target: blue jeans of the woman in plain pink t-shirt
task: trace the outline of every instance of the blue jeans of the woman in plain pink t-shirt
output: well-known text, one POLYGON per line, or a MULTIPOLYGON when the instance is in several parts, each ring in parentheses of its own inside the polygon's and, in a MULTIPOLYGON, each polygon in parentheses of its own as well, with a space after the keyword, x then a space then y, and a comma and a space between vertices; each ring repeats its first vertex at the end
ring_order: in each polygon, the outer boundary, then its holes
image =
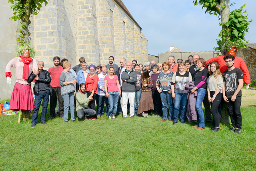
POLYGON ((116 92, 108 92, 108 115, 109 116, 116 116, 117 112, 117 104, 118 104, 118 93, 119 91, 116 92))

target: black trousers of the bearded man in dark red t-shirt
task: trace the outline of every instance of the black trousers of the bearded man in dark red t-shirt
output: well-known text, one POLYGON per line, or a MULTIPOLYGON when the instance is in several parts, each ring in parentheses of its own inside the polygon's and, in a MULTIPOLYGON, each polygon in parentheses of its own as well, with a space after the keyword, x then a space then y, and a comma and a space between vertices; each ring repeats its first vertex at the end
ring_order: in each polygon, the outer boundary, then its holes
POLYGON ((64 101, 62 99, 62 95, 60 94, 60 87, 52 87, 52 94, 50 95, 50 117, 55 117, 57 97, 59 101, 60 117, 64 116, 64 101))

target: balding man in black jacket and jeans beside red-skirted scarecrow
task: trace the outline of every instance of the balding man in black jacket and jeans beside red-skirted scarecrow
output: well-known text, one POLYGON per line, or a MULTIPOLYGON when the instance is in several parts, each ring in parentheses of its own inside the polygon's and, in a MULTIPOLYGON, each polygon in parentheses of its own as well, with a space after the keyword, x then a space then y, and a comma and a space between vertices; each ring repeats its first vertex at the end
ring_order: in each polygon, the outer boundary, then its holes
POLYGON ((52 79, 50 77, 50 73, 46 70, 43 70, 43 68, 44 68, 44 62, 38 61, 38 70, 37 71, 35 70, 34 73, 32 73, 28 78, 28 82, 32 82, 32 80, 36 81, 36 84, 34 87, 34 94, 36 95, 35 107, 33 110, 32 122, 31 122, 32 128, 36 126, 38 111, 39 111, 39 107, 41 105, 42 100, 43 100, 43 105, 42 105, 43 109, 41 113, 41 123, 44 125, 47 125, 47 123, 45 122, 45 116, 47 113, 49 95, 52 94, 52 87, 50 85, 50 82, 52 79))

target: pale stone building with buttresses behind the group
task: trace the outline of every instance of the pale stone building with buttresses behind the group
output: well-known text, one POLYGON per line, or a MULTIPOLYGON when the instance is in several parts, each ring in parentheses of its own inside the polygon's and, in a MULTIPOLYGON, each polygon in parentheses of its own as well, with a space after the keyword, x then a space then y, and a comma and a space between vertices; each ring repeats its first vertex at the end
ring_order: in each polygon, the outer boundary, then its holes
MULTIPOLYGON (((10 21, 10 3, 1 2, 0 17, 5 34, 0 35, 1 68, 14 57, 18 21, 10 21), (10 46, 11 45, 11 46, 10 46)), ((121 0, 48 0, 36 16, 32 16, 31 43, 36 49, 35 59, 45 63, 45 69, 53 66, 54 56, 67 58, 72 66, 84 57, 88 64, 108 64, 108 57, 148 61, 148 41, 142 28, 132 17, 121 0)), ((0 74, 0 99, 11 96, 15 84, 15 70, 12 69, 12 84, 6 84, 4 69, 0 74)))

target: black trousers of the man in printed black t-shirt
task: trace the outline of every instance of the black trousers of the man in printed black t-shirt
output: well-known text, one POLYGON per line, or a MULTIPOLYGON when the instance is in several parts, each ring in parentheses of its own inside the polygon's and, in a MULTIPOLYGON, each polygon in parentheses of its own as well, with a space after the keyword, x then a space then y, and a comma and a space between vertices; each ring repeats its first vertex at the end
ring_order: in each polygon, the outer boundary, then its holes
POLYGON ((228 98, 227 108, 230 115, 231 124, 235 128, 242 129, 242 114, 240 111, 242 97, 236 97, 235 101, 228 98))

